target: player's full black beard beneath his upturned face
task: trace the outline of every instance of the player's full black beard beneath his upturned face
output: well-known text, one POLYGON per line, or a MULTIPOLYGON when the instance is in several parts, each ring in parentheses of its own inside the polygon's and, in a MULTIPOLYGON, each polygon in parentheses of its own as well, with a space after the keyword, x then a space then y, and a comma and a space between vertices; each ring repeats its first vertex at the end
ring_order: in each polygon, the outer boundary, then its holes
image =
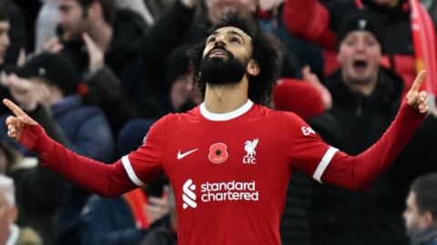
POLYGON ((202 59, 200 62, 200 76, 198 82, 200 84, 223 85, 239 83, 246 74, 246 68, 249 64, 249 59, 239 60, 235 58, 225 48, 219 48, 221 51, 228 54, 228 58, 209 57, 213 50, 202 59))

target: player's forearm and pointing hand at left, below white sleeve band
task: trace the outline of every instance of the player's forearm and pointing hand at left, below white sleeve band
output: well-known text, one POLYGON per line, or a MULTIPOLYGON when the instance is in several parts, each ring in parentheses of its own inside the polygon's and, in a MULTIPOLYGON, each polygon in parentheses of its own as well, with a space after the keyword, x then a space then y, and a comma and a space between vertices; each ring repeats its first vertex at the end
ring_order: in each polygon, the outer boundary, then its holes
POLYGON ((48 137, 43 127, 15 103, 7 99, 3 103, 15 114, 6 119, 8 136, 38 153, 43 165, 105 197, 114 197, 137 187, 130 181, 121 161, 104 164, 71 152, 48 137))

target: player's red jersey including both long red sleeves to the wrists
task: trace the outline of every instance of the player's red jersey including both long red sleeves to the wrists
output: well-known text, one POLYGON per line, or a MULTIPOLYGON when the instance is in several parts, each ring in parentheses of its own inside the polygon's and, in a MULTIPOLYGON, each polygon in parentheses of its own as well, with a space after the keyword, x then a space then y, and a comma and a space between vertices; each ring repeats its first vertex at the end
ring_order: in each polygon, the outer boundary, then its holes
POLYGON ((20 142, 43 165, 106 197, 165 171, 178 205, 179 244, 279 244, 279 218, 294 168, 317 181, 364 189, 390 166, 423 119, 402 103, 381 139, 357 156, 322 142, 297 115, 250 101, 232 113, 208 113, 202 104, 168 115, 150 129, 144 145, 114 164, 69 151, 38 124, 26 126, 20 142))

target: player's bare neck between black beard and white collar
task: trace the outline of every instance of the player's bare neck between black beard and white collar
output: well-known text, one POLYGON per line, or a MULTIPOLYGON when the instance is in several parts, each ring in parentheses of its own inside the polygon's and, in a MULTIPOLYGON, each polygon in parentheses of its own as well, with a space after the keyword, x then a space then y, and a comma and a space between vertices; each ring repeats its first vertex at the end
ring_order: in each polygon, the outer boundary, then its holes
POLYGON ((205 108, 210 113, 230 113, 248 102, 249 84, 246 76, 243 81, 232 85, 210 85, 205 92, 205 108))

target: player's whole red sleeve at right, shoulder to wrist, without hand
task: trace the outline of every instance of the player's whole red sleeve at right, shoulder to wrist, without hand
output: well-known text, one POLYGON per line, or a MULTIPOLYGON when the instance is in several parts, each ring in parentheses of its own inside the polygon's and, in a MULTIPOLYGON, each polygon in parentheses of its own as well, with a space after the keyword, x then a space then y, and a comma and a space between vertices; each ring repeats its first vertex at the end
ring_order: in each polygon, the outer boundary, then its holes
POLYGON ((296 137, 290 145, 291 162, 317 181, 352 190, 365 189, 398 157, 423 119, 423 114, 402 103, 400 112, 381 139, 357 156, 337 151, 321 142, 318 135, 305 128, 308 127, 305 122, 295 120, 295 129, 291 129, 291 135, 296 137), (304 127, 300 135, 298 127, 304 127))

